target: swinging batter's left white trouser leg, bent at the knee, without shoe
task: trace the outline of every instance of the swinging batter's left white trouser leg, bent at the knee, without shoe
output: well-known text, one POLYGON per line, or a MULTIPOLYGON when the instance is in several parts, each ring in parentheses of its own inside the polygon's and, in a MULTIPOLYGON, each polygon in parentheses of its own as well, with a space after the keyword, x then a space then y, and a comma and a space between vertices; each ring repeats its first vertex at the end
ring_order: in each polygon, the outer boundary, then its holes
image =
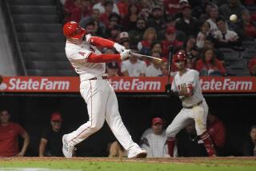
POLYGON ((104 86, 104 82, 106 81, 86 81, 82 86, 81 94, 87 104, 89 121, 74 132, 67 134, 67 141, 69 141, 70 145, 77 145, 102 128, 105 121, 106 101, 109 93, 104 86))

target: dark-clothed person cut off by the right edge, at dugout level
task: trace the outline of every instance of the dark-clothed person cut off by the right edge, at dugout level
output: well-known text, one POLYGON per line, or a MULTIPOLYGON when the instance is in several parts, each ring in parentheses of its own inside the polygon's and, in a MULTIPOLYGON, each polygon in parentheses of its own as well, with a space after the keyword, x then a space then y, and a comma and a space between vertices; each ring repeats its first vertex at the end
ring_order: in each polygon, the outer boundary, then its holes
POLYGON ((256 156, 256 125, 250 128, 250 137, 246 138, 242 153, 244 156, 256 156))

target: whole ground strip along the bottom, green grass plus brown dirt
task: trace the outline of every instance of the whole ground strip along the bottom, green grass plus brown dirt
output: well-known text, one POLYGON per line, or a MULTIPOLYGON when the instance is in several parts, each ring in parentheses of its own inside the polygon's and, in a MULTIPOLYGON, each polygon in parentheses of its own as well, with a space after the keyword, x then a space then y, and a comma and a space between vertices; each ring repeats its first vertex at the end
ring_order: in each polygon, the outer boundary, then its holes
POLYGON ((0 158, 0 170, 85 170, 85 171, 201 171, 256 170, 256 157, 192 157, 117 159, 76 157, 15 157, 0 158))

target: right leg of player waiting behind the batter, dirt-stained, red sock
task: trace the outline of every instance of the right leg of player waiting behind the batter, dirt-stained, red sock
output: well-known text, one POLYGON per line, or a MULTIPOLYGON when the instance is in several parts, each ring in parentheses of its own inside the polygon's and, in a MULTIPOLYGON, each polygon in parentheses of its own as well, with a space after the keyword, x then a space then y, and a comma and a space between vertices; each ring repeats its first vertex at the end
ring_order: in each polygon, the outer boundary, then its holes
POLYGON ((204 142, 206 151, 209 156, 216 156, 216 151, 214 149, 214 143, 210 138, 210 134, 206 129, 206 117, 208 114, 208 106, 206 102, 202 105, 194 107, 191 109, 192 117, 194 118, 195 129, 197 131, 198 136, 204 142))

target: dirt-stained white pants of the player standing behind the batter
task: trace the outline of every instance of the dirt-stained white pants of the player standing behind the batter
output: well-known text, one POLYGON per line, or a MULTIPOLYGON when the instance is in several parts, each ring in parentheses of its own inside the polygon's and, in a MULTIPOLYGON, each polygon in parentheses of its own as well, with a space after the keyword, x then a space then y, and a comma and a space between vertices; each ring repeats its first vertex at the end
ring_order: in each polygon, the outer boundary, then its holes
POLYGON ((206 101, 202 101, 201 105, 195 106, 192 109, 183 108, 171 124, 166 129, 167 137, 175 137, 176 134, 186 125, 190 124, 191 119, 194 120, 195 129, 198 135, 201 135, 206 131, 206 118, 208 114, 208 105, 206 101))

